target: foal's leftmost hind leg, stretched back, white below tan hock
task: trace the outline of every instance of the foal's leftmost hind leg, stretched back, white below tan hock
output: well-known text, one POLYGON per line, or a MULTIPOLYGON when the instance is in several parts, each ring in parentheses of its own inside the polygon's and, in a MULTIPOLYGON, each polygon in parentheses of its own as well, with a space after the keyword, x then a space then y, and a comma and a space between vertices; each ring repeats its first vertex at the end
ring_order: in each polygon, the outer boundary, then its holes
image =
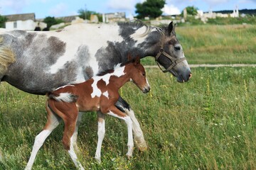
POLYGON ((46 138, 48 137, 48 135, 50 135, 50 133, 58 126, 58 124, 60 123, 60 117, 58 117, 58 115, 55 115, 55 113, 52 113, 50 111, 50 108, 48 107, 48 104, 46 102, 46 111, 48 113, 48 118, 47 118, 47 123, 45 128, 43 128, 43 131, 40 132, 36 138, 35 138, 35 142, 33 145, 33 149, 31 152, 31 157, 28 160, 28 164, 26 166, 26 170, 28 169, 32 169, 33 166, 33 162, 35 161, 36 158, 36 154, 38 152, 38 150, 42 147, 43 142, 46 140, 46 138))

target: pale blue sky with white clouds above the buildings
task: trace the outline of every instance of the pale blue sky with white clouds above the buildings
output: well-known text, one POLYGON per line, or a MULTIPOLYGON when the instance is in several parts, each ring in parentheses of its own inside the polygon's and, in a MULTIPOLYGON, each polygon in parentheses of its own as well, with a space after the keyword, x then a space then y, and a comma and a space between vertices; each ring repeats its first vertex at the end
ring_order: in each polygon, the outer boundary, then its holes
MULTIPOLYGON (((125 12, 127 18, 136 16, 135 5, 145 0, 0 0, 0 15, 35 13, 36 18, 78 15, 79 9, 97 13, 125 12)), ((186 6, 201 11, 256 9, 256 0, 166 0, 164 15, 179 14, 186 6)))

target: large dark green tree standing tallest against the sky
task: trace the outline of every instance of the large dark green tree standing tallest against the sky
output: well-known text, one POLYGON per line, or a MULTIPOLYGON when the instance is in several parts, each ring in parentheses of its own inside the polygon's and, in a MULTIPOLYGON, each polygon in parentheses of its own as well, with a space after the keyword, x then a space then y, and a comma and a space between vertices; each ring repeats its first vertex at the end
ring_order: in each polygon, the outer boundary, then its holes
POLYGON ((137 18, 142 19, 146 16, 157 18, 161 16, 163 13, 161 9, 164 8, 164 4, 166 4, 165 0, 146 0, 142 4, 136 4, 135 13, 138 13, 137 18))

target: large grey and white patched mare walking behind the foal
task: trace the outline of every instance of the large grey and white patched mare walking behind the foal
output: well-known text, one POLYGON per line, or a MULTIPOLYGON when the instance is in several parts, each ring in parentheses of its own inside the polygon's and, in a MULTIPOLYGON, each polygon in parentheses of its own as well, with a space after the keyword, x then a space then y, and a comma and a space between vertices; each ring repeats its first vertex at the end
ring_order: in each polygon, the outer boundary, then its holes
MULTIPOLYGON (((178 82, 186 82, 192 75, 173 22, 160 28, 133 21, 73 24, 48 32, 0 29, 0 80, 30 94, 46 95, 127 62, 129 53, 132 58, 154 57, 178 82)), ((132 119, 135 145, 146 149, 132 108, 122 96, 115 105, 132 119)))

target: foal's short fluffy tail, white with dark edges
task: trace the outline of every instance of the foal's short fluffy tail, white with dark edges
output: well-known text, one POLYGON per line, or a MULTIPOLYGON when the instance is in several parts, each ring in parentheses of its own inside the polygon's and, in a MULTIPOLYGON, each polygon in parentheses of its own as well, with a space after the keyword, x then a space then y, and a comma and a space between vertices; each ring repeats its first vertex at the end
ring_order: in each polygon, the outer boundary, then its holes
POLYGON ((50 92, 47 94, 48 98, 51 98, 55 101, 63 101, 63 102, 67 102, 67 103, 73 103, 78 101, 78 96, 75 96, 74 94, 69 94, 69 93, 54 93, 54 92, 50 92))

